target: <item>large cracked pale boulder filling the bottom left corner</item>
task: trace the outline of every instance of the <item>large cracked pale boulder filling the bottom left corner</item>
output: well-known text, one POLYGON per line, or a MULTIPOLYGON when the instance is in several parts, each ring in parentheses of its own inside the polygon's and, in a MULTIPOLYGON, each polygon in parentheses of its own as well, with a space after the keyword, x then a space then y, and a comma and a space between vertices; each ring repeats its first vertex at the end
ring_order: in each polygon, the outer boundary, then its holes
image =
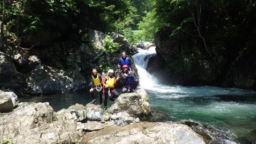
POLYGON ((0 114, 0 141, 75 144, 82 130, 76 130, 74 120, 58 119, 49 103, 20 103, 11 113, 0 114))

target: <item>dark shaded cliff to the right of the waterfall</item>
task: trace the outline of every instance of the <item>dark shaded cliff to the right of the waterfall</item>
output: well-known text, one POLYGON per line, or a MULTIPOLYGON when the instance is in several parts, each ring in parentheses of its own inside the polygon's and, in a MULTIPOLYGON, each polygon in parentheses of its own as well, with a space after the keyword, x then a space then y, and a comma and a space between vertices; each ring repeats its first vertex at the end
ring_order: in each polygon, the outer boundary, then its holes
MULTIPOLYGON (((255 27, 251 29, 255 31, 255 27)), ((163 59, 165 64, 159 71, 148 71, 153 74, 164 73, 165 77, 169 77, 169 84, 256 90, 256 57, 253 46, 246 46, 246 42, 241 40, 236 43, 243 44, 237 47, 230 45, 223 49, 211 49, 210 56, 203 48, 200 38, 182 30, 170 36, 172 31, 171 28, 163 28, 155 34, 156 57, 163 59), (242 45, 245 47, 241 47, 242 45)), ((247 41, 252 39, 248 37, 247 41)))

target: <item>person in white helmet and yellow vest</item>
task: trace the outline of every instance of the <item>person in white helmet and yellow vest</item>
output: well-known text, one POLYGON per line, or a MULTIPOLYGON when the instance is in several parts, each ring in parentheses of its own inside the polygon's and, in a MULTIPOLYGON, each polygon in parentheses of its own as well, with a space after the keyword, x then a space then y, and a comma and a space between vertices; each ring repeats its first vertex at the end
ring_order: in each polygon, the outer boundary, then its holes
POLYGON ((110 101, 115 101, 114 98, 117 98, 119 96, 119 93, 115 90, 115 85, 117 84, 117 81, 119 80, 119 76, 117 79, 114 77, 114 71, 112 69, 108 70, 108 75, 103 80, 103 86, 105 87, 105 100, 104 100, 104 109, 107 109, 107 102, 108 102, 108 96, 111 96, 111 94, 114 94, 114 96, 110 97, 110 101))

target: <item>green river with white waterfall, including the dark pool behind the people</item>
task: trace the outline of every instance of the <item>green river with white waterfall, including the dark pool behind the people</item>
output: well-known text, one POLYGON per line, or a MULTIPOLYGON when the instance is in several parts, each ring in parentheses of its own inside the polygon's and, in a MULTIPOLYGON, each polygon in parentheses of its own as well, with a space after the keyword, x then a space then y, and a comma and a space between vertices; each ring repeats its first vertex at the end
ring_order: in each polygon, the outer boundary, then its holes
MULTIPOLYGON (((170 121, 194 120, 210 125, 226 134, 231 141, 226 143, 253 144, 256 142, 256 92, 220 87, 166 86, 145 71, 147 55, 155 53, 139 49, 133 55, 139 74, 138 89, 148 93, 150 107, 167 113, 170 121)), ((121 93, 121 89, 117 90, 121 93)), ((98 93, 95 93, 98 104, 98 93)), ((28 102, 49 102, 55 111, 74 104, 86 105, 91 101, 89 92, 64 93, 51 96, 37 96, 21 100, 28 102)), ((108 101, 110 107, 112 101, 108 101)))

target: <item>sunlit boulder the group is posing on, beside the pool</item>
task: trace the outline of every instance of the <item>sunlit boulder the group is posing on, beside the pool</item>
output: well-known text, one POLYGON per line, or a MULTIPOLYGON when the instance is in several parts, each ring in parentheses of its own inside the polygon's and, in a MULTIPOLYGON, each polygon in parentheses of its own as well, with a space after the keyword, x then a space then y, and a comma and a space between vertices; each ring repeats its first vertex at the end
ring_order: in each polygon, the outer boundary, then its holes
POLYGON ((151 116, 147 92, 144 89, 137 90, 137 93, 124 93, 118 96, 106 112, 126 112, 142 120, 151 116))

